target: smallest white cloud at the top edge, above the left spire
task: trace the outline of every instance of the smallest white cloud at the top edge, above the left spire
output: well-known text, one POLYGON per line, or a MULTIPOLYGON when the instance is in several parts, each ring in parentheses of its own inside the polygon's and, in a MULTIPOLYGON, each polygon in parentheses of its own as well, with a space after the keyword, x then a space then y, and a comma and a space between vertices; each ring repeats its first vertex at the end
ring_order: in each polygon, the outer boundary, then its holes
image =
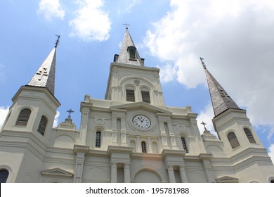
POLYGON ((60 6, 59 0, 41 0, 37 13, 43 14, 47 20, 63 19, 65 16, 65 11, 60 6))

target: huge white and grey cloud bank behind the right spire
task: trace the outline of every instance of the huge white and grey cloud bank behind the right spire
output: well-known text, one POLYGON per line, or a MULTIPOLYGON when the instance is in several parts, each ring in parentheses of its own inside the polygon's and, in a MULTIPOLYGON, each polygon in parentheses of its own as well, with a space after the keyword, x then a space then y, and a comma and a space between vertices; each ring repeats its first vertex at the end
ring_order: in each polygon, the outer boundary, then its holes
POLYGON ((216 80, 247 109, 252 124, 268 126, 270 139, 274 135, 274 1, 173 0, 170 6, 143 41, 153 56, 169 63, 167 82, 177 80, 188 88, 205 84, 202 56, 216 80))

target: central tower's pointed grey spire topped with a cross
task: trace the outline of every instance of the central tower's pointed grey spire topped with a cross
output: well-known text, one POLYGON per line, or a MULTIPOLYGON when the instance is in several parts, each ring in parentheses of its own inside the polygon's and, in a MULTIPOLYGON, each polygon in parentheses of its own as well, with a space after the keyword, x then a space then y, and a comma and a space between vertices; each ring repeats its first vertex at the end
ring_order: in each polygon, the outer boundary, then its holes
POLYGON ((120 54, 117 58, 117 63, 126 63, 131 65, 144 66, 144 59, 139 56, 136 46, 133 43, 129 34, 129 24, 126 23, 126 32, 120 49, 120 54))

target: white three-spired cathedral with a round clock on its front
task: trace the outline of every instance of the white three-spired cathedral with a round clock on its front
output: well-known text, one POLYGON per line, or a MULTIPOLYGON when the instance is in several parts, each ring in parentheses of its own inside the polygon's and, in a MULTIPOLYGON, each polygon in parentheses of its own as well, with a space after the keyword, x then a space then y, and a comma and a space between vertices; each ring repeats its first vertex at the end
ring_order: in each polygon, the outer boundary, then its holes
POLYGON ((0 130, 0 182, 274 182, 274 165, 246 111, 204 66, 218 137, 189 106, 166 106, 159 69, 145 67, 128 28, 105 99, 84 96, 79 130, 53 128, 56 46, 13 96, 0 130))

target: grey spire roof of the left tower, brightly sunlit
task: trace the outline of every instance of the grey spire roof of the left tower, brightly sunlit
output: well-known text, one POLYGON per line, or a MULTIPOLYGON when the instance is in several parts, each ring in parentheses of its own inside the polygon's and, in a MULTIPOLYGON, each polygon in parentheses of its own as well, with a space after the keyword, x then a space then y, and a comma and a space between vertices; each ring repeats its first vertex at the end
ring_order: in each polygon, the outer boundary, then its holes
POLYGON ((53 48, 48 57, 41 64, 40 68, 32 77, 32 80, 27 84, 34 87, 46 87, 51 94, 54 95, 56 75, 56 47, 53 48))

